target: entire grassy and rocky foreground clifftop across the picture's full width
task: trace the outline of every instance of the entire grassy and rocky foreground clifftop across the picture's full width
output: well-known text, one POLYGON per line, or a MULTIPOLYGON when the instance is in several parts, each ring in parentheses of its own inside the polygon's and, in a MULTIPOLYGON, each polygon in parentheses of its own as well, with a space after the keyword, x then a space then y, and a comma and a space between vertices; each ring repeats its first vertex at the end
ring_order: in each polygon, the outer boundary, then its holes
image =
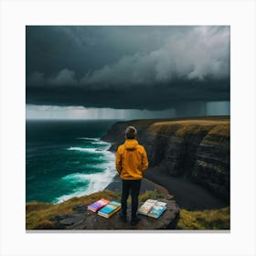
MULTIPOLYGON (((230 229, 230 211, 228 208, 203 211, 187 211, 179 208, 172 197, 159 191, 147 191, 139 196, 140 204, 153 198, 167 203, 167 210, 159 219, 141 216, 136 226, 117 220, 117 215, 104 219, 89 212, 87 206, 99 198, 121 200, 121 194, 109 190, 100 191, 84 197, 73 197, 63 203, 27 202, 26 229, 72 229, 72 230, 108 230, 108 229, 230 229)), ((131 206, 129 206, 131 210, 131 206)), ((130 217, 130 212, 128 217, 130 217)))

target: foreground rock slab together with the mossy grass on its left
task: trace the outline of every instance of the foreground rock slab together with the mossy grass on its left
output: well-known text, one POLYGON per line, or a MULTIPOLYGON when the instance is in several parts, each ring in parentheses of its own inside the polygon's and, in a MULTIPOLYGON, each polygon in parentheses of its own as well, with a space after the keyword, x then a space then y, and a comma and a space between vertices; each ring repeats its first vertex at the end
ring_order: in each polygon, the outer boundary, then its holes
MULTIPOLYGON (((105 219, 87 209, 88 205, 99 200, 121 200, 120 194, 106 190, 84 197, 73 197, 68 201, 53 205, 50 203, 30 202, 26 205, 26 228, 28 229, 72 229, 72 230, 120 230, 120 229, 176 229, 180 208, 170 196, 164 196, 156 191, 148 191, 139 197, 139 206, 147 198, 156 198, 166 203, 166 209, 161 218, 154 219, 140 215, 141 221, 131 226, 130 221, 123 223, 118 214, 105 219)), ((131 204, 128 203, 128 220, 131 217, 131 204)))

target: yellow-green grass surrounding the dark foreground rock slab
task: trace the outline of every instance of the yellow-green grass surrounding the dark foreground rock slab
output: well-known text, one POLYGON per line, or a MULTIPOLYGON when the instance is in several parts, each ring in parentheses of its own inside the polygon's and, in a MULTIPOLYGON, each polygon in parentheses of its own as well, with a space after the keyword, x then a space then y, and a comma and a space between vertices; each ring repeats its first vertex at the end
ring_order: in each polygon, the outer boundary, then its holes
MULTIPOLYGON (((51 229, 53 223, 49 220, 59 214, 72 213, 73 207, 79 204, 91 204, 101 198, 108 200, 121 200, 120 193, 101 191, 84 197, 73 197, 63 203, 53 205, 50 203, 29 202, 26 204, 26 229, 51 229)), ((146 191, 141 194, 139 201, 148 198, 164 198, 159 191, 146 191)), ((229 229, 229 208, 220 208, 203 211, 188 211, 181 209, 177 229, 229 229)))

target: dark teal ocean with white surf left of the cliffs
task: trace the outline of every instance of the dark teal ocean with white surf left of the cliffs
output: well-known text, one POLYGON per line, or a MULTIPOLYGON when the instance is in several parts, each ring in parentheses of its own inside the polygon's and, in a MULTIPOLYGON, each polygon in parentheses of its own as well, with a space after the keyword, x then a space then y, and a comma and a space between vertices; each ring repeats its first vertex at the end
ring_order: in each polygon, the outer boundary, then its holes
POLYGON ((27 121, 26 201, 63 202, 107 187, 116 175, 101 136, 116 121, 27 121))

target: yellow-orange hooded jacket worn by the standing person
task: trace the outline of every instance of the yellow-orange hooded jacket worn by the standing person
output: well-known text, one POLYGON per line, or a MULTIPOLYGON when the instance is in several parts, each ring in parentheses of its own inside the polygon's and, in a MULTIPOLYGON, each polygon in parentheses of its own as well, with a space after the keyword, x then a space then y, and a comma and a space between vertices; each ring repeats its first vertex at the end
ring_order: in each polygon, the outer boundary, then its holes
POLYGON ((137 140, 126 140, 117 149, 115 166, 121 178, 141 179, 148 167, 144 146, 137 140))

